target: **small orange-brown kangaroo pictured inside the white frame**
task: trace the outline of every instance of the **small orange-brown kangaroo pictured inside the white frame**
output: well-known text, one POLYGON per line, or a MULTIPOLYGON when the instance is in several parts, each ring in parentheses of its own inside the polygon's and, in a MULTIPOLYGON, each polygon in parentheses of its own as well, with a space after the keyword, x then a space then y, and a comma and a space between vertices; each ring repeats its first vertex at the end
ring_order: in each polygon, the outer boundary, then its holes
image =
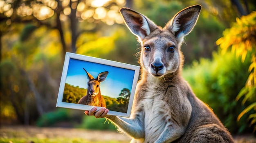
POLYGON ((87 73, 87 76, 89 78, 87 95, 83 96, 79 100, 78 104, 106 108, 106 102, 105 102, 104 98, 101 96, 99 84, 100 84, 100 82, 103 82, 105 80, 105 78, 108 75, 108 72, 101 72, 96 79, 91 74, 89 74, 86 70, 85 70, 85 72, 87 73))

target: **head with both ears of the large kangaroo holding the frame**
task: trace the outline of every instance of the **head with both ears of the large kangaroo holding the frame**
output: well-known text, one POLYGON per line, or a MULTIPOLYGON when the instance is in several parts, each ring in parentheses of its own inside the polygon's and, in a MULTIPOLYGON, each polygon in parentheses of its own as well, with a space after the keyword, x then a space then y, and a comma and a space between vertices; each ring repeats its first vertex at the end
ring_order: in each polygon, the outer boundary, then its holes
POLYGON ((187 7, 161 28, 136 11, 120 9, 126 26, 141 43, 140 64, 143 72, 159 78, 182 69, 180 46, 184 36, 195 26, 200 10, 200 5, 187 7))

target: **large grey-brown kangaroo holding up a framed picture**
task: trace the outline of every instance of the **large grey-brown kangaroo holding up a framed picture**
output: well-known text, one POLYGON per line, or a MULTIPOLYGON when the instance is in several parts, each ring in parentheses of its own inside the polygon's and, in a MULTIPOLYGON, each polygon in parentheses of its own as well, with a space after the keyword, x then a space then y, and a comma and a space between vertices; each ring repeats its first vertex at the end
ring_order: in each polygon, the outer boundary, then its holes
POLYGON ((106 115, 108 109, 85 111, 106 117, 131 143, 234 143, 229 131, 182 78, 184 36, 195 26, 200 5, 178 12, 164 28, 146 16, 120 9, 126 26, 141 43, 141 79, 129 118, 106 115))

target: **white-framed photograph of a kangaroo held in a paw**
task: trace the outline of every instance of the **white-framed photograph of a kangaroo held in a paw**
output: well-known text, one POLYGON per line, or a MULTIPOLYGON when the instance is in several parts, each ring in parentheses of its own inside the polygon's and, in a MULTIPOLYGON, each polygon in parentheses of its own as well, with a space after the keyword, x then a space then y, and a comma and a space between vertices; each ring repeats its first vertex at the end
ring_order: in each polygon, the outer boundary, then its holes
POLYGON ((66 52, 56 107, 130 117, 139 66, 66 52))

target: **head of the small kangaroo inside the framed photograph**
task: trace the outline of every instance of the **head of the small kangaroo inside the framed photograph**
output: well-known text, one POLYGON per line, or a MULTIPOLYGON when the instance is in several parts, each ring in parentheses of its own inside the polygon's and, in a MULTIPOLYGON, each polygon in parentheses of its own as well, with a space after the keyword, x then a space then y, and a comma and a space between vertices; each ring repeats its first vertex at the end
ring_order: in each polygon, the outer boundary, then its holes
MULTIPOLYGON (((83 68, 84 69, 84 68, 83 68)), ((85 70, 85 69, 84 69, 85 70)), ((92 96, 98 95, 100 93, 99 83, 103 82, 108 75, 108 72, 101 72, 97 78, 94 78, 91 74, 89 74, 86 70, 87 76, 89 78, 87 93, 92 96)))

